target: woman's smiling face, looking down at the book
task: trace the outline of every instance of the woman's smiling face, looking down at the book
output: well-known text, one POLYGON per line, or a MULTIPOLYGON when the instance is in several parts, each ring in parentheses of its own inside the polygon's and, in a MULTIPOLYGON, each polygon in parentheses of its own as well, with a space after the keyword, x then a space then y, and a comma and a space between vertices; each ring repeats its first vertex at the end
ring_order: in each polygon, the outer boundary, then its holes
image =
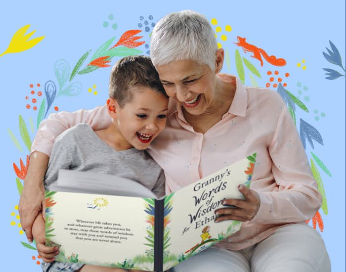
POLYGON ((177 60, 156 67, 167 95, 193 115, 213 107, 216 72, 195 60, 177 60))

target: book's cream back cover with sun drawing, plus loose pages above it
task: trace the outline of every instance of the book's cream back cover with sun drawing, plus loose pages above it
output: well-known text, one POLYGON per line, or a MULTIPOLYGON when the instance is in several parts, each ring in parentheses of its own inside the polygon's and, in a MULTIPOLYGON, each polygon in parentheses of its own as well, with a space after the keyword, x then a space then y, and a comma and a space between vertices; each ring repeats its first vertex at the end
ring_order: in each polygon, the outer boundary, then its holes
POLYGON ((109 190, 94 180, 94 174, 63 172, 52 188, 64 192, 46 192, 46 239, 61 245, 56 261, 153 271, 154 237, 148 237, 146 226, 148 203, 155 206, 152 198, 66 192, 97 187, 108 193, 150 197, 151 191, 135 181, 95 174, 101 180, 115 180, 113 190, 109 190), (73 182, 68 182, 71 179, 73 182))

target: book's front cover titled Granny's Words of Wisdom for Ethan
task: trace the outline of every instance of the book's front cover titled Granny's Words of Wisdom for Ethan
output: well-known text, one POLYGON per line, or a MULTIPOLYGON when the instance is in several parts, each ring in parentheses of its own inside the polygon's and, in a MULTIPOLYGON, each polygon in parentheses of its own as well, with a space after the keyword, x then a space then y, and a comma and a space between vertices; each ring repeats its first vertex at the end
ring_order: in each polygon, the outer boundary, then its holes
POLYGON ((250 185, 255 160, 256 153, 166 196, 164 270, 240 229, 239 221, 215 223, 215 210, 224 199, 244 198, 237 186, 250 185))

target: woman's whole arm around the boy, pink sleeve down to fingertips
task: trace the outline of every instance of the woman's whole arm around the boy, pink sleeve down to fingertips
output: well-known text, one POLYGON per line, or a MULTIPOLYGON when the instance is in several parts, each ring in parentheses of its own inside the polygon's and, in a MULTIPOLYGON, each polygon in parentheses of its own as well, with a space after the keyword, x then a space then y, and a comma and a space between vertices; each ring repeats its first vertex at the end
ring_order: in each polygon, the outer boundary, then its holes
POLYGON ((111 119, 104 105, 92 110, 50 114, 48 119, 40 124, 31 146, 30 165, 19 200, 20 221, 29 242, 33 239, 31 227, 34 219, 42 207, 44 209, 43 177, 54 139, 68 128, 82 122, 89 124, 94 130, 99 130, 108 127, 111 119))

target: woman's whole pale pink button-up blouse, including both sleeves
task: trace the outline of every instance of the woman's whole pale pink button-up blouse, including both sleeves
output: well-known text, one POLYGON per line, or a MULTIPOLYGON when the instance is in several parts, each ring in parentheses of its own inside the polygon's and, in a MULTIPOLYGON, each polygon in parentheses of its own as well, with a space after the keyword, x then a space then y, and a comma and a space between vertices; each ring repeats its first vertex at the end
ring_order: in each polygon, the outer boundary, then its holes
MULTIPOLYGON (((267 89, 244 87, 231 75, 218 77, 237 86, 232 104, 222 119, 204 134, 195 132, 186 122, 181 105, 171 99, 167 127, 148 152, 165 171, 166 193, 257 152, 250 188, 259 194, 258 213, 252 220, 243 222, 240 231, 216 244, 241 250, 284 224, 310 219, 322 198, 295 124, 280 95, 267 89)), ((99 130, 107 128, 111 118, 105 105, 50 114, 41 123, 31 151, 49 155, 55 137, 81 122, 99 130)))

